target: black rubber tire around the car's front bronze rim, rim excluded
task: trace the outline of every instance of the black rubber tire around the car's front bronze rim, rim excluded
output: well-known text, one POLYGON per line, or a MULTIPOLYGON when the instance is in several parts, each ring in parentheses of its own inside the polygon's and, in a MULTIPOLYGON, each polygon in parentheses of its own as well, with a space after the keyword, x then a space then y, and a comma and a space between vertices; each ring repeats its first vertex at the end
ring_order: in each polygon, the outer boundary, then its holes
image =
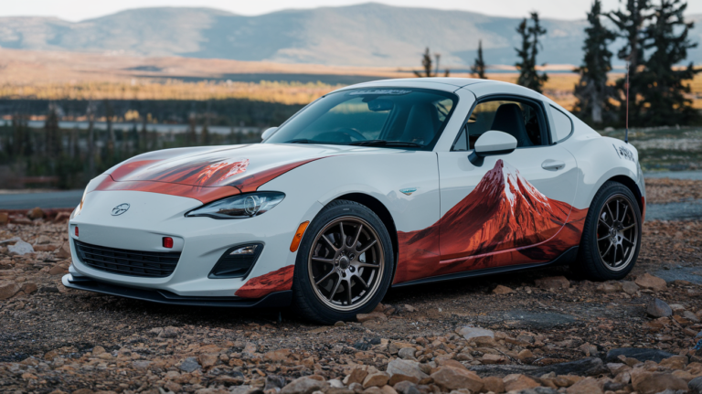
POLYGON ((302 317, 308 320, 313 320, 322 324, 334 324, 338 321, 355 320, 356 314, 371 312, 378 303, 382 301, 383 297, 385 297, 385 293, 388 292, 390 282, 392 281, 394 261, 392 242, 388 234, 388 229, 386 229, 382 220, 378 218, 378 215, 370 208, 354 201, 333 201, 324 207, 312 220, 309 227, 305 230, 300 248, 297 250, 293 275, 293 301, 298 313, 302 314, 302 317), (378 234, 385 257, 385 261, 383 261, 385 264, 383 277, 378 285, 378 290, 367 303, 351 311, 335 311, 322 303, 314 293, 313 285, 309 281, 308 276, 309 267, 307 259, 318 233, 324 229, 329 222, 342 217, 356 217, 366 221, 378 234))

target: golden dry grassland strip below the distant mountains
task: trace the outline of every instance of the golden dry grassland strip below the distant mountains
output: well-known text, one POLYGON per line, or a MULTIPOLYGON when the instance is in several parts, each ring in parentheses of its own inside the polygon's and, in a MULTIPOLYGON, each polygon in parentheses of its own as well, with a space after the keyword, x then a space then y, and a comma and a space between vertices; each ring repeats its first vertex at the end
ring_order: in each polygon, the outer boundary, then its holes
MULTIPOLYGON (((569 69, 553 66, 548 70, 569 69)), ((505 68, 500 68, 505 69, 505 68)), ((303 104, 333 91, 339 85, 321 82, 232 82, 228 76, 271 74, 271 80, 285 74, 366 76, 378 79, 406 78, 411 74, 390 68, 334 67, 314 64, 281 64, 225 59, 139 58, 90 53, 29 51, 0 48, 0 98, 77 100, 217 100, 303 104), (184 79, 202 79, 186 82, 184 79)), ((470 78, 469 74, 452 77, 470 78)), ((488 73, 491 80, 515 83, 516 72, 488 73)), ((622 78, 612 74, 610 81, 622 78)), ((263 78, 262 78, 263 79, 263 78)), ((573 73, 549 74, 544 93, 567 109, 576 102, 573 73)), ((702 73, 691 82, 694 106, 702 109, 702 73)))

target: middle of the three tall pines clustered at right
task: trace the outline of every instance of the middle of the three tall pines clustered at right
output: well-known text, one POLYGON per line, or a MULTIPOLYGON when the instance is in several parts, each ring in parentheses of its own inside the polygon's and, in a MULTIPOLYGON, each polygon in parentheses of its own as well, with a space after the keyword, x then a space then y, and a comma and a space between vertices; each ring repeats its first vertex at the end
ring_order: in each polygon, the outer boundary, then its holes
MULTIPOLYGON (((626 41, 617 57, 629 62, 629 118, 633 122, 640 122, 643 104, 639 95, 644 87, 639 79, 639 66, 645 62, 644 27, 652 17, 650 0, 626 0, 623 10, 611 12, 607 17, 619 29, 618 36, 626 41)), ((626 116, 626 78, 617 80, 615 87, 620 102, 620 121, 623 122, 626 116)))

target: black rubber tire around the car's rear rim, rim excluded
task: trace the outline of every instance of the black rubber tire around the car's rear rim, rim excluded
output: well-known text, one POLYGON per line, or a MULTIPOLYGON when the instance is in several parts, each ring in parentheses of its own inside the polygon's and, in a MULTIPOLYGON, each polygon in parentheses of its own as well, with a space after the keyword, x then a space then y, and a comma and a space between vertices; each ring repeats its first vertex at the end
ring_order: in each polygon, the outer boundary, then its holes
POLYGON ((638 259, 639 250, 641 250, 642 230, 641 210, 639 209, 636 197, 633 196, 632 191, 618 182, 606 182, 601 186, 600 190, 592 199, 592 204, 590 204, 590 209, 583 228, 582 240, 580 241, 578 259, 579 271, 585 274, 589 279, 596 281, 623 279, 633 270, 633 266, 638 259), (612 271, 607 267, 600 257, 600 250, 597 245, 597 222, 599 220, 601 208, 610 197, 616 195, 625 197, 633 207, 633 214, 636 216, 636 223, 638 226, 636 231, 636 247, 633 250, 632 261, 622 271, 612 271))

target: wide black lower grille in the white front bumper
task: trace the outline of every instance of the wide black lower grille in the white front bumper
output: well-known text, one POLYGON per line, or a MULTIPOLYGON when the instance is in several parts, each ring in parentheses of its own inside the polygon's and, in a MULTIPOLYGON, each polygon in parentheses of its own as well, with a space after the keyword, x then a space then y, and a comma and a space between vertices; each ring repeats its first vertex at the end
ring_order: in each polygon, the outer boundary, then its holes
POLYGON ((75 240, 80 261, 96 270, 130 276, 165 278, 176 270, 180 252, 122 250, 75 240))

